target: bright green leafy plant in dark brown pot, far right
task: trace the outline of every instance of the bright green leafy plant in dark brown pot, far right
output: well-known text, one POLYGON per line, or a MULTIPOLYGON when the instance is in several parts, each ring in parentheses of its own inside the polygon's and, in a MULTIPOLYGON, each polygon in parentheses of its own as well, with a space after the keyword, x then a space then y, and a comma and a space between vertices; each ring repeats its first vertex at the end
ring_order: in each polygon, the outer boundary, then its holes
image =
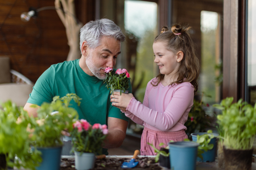
POLYGON ((217 123, 223 130, 225 169, 250 170, 256 134, 256 105, 253 108, 242 99, 232 102, 233 97, 227 97, 220 105, 214 105, 222 110, 217 123))

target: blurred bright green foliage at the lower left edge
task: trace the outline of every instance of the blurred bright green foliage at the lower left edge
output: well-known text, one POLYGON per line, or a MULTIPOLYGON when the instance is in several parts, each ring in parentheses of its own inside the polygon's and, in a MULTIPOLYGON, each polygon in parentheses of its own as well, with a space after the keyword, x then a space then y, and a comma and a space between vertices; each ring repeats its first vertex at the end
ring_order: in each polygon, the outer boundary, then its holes
POLYGON ((6 155, 6 161, 10 167, 23 167, 35 170, 41 162, 40 152, 30 150, 28 126, 36 124, 35 119, 30 118, 26 111, 20 110, 15 103, 7 101, 0 109, 0 153, 6 155), (17 123, 17 118, 21 120, 17 123), (15 159, 17 156, 18 159, 15 159), (14 161, 12 161, 14 160, 14 161))

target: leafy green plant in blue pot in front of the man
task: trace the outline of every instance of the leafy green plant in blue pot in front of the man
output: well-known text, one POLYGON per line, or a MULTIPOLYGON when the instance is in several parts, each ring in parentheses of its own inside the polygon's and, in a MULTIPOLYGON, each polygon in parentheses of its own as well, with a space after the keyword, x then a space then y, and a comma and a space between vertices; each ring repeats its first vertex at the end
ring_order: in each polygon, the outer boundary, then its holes
MULTIPOLYGON (((70 108, 70 101, 74 100, 80 105, 81 98, 76 94, 67 94, 59 98, 55 96, 52 103, 44 102, 38 109, 38 117, 41 123, 31 126, 31 139, 35 141, 33 144, 42 153, 42 163, 38 170, 58 170, 60 169, 61 160, 61 131, 73 129, 73 123, 78 120, 78 113, 74 108, 70 108), (57 114, 51 114, 58 111, 57 114)), ((32 105, 36 107, 35 105, 32 105)))

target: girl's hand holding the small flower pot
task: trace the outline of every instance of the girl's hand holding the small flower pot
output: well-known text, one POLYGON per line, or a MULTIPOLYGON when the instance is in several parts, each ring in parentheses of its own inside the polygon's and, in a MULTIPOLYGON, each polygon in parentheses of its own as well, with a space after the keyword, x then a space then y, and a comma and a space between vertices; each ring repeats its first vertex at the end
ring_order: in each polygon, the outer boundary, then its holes
POLYGON ((111 95, 110 97, 111 97, 111 102, 116 102, 116 103, 112 103, 112 106, 127 108, 131 98, 133 98, 134 96, 131 93, 129 94, 122 93, 122 95, 120 96, 119 92, 114 92, 114 95, 111 95), (113 98, 116 98, 116 99, 113 99, 113 98))

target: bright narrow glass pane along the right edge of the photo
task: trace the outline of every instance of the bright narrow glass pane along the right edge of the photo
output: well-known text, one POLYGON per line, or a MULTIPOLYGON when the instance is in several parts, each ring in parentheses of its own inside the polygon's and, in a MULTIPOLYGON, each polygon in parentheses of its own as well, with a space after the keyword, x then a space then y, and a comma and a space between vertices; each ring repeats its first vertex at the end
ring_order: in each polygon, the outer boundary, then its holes
POLYGON ((247 85, 248 102, 256 103, 256 1, 248 0, 247 85))

